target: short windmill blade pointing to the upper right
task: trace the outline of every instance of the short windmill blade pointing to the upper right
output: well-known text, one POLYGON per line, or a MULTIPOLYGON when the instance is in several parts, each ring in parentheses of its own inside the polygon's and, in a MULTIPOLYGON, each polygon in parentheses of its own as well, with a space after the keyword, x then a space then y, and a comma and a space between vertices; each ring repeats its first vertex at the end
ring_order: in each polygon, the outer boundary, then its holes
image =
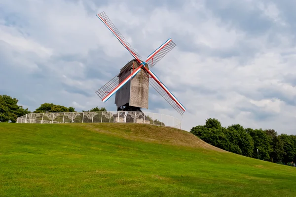
POLYGON ((146 60, 148 63, 149 69, 151 69, 162 57, 167 55, 174 47, 177 45, 170 38, 164 42, 160 47, 158 47, 153 53, 151 53, 146 60))

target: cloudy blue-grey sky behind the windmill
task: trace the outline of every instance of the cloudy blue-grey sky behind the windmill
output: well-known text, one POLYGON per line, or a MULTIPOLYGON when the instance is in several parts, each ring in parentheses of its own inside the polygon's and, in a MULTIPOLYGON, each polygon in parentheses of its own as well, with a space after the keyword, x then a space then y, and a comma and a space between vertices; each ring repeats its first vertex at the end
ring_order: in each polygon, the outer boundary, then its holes
MULTIPOLYGON (((149 109, 189 131, 222 126, 296 134, 296 6, 291 0, 0 0, 0 94, 34 111, 42 103, 116 111, 95 93, 132 56, 97 18, 105 11, 148 56, 177 44, 153 72, 187 111, 151 90, 149 109)), ((150 88, 151 89, 151 88, 150 88)))

